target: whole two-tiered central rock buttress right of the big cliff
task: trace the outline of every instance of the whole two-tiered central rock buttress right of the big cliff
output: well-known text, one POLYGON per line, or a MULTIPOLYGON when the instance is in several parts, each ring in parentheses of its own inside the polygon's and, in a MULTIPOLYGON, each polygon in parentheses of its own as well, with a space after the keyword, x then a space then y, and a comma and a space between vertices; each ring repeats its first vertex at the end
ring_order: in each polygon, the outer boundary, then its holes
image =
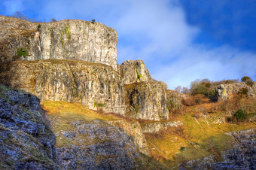
POLYGON ((167 85, 151 78, 142 60, 127 60, 120 65, 126 84, 126 116, 142 120, 168 120, 167 85))

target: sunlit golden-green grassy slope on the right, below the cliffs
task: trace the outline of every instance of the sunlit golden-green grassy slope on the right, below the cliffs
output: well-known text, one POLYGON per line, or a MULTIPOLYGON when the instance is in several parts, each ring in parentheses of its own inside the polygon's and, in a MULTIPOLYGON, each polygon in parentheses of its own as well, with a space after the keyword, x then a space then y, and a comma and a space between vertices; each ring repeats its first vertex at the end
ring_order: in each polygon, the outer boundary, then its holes
POLYGON ((202 105, 190 107, 186 114, 176 117, 183 121, 183 127, 146 134, 151 156, 171 167, 210 155, 214 156, 215 161, 221 161, 221 151, 231 149, 236 144, 236 140, 226 132, 256 128, 253 122, 214 124, 224 112, 196 117, 200 107, 202 105))

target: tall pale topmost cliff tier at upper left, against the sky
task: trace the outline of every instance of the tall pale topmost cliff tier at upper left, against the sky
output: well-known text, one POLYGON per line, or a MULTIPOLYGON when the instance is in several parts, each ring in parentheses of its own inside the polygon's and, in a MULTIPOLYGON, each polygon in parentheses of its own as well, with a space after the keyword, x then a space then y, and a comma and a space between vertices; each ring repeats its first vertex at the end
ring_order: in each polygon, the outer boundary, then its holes
POLYGON ((101 23, 61 20, 39 24, 0 16, 0 44, 2 62, 78 59, 117 70, 117 32, 101 23), (17 55, 20 50, 23 53, 17 55))

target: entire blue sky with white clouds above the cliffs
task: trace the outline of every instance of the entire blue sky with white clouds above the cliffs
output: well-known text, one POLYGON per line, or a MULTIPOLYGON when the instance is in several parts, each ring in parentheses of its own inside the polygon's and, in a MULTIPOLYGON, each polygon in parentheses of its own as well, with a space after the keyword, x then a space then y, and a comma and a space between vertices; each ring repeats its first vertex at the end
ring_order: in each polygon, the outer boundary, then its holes
POLYGON ((169 89, 203 78, 256 80, 254 0, 1 0, 0 14, 16 11, 110 26, 117 30, 117 62, 144 60, 169 89))

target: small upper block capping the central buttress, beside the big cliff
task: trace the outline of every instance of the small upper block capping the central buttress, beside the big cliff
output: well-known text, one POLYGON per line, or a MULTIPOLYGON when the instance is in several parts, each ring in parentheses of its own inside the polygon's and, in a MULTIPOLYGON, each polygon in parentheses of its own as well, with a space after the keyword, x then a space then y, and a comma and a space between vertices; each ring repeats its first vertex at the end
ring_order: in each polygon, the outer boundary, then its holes
POLYGON ((120 65, 120 74, 125 84, 152 80, 142 60, 126 60, 120 65))

